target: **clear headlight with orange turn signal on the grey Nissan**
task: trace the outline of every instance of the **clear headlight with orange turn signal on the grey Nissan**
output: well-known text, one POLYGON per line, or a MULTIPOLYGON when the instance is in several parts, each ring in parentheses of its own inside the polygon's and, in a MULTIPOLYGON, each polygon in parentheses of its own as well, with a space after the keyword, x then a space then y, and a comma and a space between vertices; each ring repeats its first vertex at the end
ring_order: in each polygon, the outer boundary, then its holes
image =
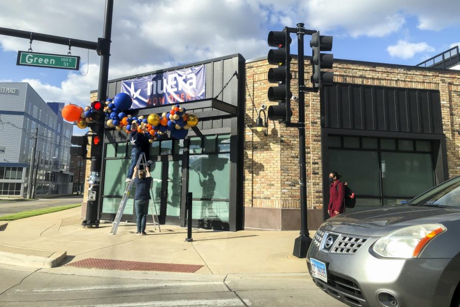
POLYGON ((427 243, 444 231, 441 224, 409 226, 382 236, 372 249, 385 258, 417 258, 427 243))

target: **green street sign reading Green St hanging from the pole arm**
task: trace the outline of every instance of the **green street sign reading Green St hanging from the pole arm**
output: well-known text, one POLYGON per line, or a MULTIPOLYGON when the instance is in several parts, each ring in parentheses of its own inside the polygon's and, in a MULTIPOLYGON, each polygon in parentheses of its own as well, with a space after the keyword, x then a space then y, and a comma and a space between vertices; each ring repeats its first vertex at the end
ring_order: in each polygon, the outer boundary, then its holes
POLYGON ((72 55, 18 51, 16 65, 79 70, 80 57, 72 55))

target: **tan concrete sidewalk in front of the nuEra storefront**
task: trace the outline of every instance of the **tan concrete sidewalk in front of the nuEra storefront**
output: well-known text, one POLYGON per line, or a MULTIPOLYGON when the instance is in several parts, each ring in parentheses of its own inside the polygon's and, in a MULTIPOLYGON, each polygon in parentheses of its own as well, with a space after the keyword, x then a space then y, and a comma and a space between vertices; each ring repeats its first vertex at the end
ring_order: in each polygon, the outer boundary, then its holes
MULTIPOLYGON (((163 225, 147 235, 134 224, 83 228, 81 208, 9 222, 0 227, 0 263, 52 268, 88 258, 203 266, 195 274, 307 273, 305 259, 292 257, 298 231, 213 231, 163 225), (3 229, 3 230, 2 230, 3 229)), ((310 236, 314 233, 311 232, 310 236)))

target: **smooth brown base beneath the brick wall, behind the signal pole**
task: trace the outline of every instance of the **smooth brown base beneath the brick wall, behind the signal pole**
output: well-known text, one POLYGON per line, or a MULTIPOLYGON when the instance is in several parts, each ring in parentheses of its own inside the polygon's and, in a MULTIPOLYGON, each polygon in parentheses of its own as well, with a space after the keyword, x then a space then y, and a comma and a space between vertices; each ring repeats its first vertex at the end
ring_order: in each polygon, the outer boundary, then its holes
MULTIPOLYGON (((300 209, 244 208, 244 229, 300 230, 300 209)), ((309 230, 318 229, 323 223, 323 209, 308 209, 309 230)))

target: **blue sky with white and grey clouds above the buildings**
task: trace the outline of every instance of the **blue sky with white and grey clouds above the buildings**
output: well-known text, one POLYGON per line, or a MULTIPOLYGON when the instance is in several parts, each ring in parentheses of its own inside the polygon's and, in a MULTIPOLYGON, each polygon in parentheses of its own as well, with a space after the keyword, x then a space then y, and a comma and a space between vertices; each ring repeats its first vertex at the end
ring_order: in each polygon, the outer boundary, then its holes
MULTIPOLYGON (((0 8, 0 27, 102 37, 104 0, 0 0, 0 8)), ((235 53, 264 57, 268 32, 297 23, 332 35, 334 58, 416 65, 460 44, 459 14, 458 0, 114 0, 109 80, 235 53)), ((29 82, 45 101, 90 104, 96 51, 71 49, 79 71, 17 66, 17 52, 29 47, 28 39, 0 35, 0 82, 29 82)), ((65 55, 68 47, 33 41, 32 50, 65 55)))

